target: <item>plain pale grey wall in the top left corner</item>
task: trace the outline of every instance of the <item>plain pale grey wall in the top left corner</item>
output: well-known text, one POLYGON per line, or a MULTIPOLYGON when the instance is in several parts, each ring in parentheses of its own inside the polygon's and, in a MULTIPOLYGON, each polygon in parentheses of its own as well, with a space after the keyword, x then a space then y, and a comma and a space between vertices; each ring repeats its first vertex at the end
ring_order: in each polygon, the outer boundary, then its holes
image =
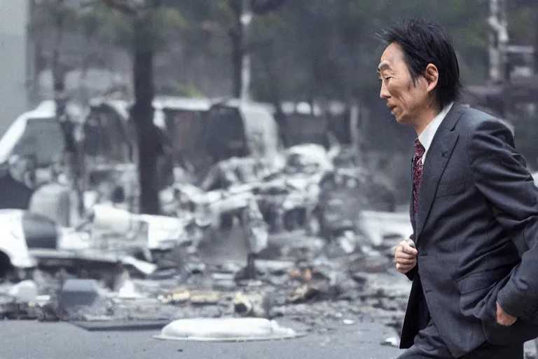
POLYGON ((0 136, 27 111, 28 0, 0 0, 0 136))

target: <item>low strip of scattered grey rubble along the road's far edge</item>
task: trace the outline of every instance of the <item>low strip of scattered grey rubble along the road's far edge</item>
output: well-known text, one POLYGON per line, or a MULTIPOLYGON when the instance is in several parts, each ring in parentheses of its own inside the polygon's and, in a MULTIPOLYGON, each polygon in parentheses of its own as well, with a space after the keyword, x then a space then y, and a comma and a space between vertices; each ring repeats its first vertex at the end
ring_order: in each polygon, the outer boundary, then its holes
MULTIPOLYGON (((36 302, 41 296, 41 303, 20 306, 6 292, 3 297, 6 304, 0 307, 5 318, 39 320, 234 316, 271 319, 284 316, 305 323, 308 331, 315 332, 373 318, 385 325, 398 327, 403 318, 410 285, 394 270, 351 273, 321 264, 319 268, 315 264, 297 265, 274 260, 260 261, 259 264, 256 269, 261 273, 260 278, 244 283, 233 281, 233 273, 240 269, 233 262, 208 266, 206 273, 193 275, 179 286, 177 278, 136 279, 130 278, 126 271, 116 278, 118 285, 115 291, 97 280, 68 279, 64 280, 60 292, 55 292, 52 287, 48 289, 53 293, 48 296, 48 301, 43 302, 45 296, 41 293, 47 291, 39 287, 36 302), (270 280, 275 276, 283 280, 275 284, 270 280), (80 300, 76 299, 78 297, 80 300), (63 310, 66 307, 71 310, 63 310)), ((57 277, 57 280, 62 280, 62 276, 57 277)), ((49 277, 46 282, 50 280, 53 278, 49 277)), ((42 280, 37 283, 43 285, 42 280)), ((34 285, 19 287, 32 288, 34 285)))

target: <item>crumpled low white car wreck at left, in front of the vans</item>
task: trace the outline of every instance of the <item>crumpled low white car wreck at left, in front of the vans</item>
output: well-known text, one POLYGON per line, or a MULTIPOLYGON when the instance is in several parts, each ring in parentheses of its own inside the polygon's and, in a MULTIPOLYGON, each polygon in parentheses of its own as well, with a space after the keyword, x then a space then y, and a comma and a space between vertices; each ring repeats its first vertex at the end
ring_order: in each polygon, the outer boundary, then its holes
POLYGON ((103 204, 94 205, 90 217, 74 228, 26 210, 1 210, 0 220, 6 231, 1 274, 17 280, 35 268, 104 280, 108 286, 123 268, 142 278, 163 266, 179 273, 202 240, 188 213, 135 215, 103 204))

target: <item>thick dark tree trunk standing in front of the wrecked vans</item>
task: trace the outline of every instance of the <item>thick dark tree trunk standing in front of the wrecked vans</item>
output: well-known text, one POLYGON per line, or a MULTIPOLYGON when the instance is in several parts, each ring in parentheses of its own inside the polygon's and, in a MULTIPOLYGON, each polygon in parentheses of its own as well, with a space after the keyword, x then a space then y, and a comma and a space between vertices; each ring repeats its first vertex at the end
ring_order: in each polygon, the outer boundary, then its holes
POLYGON ((153 124, 153 58, 166 42, 167 27, 181 25, 181 16, 161 0, 102 0, 126 20, 129 32, 119 39, 132 53, 135 104, 130 118, 137 130, 139 210, 158 214, 157 158, 163 154, 163 137, 153 124))

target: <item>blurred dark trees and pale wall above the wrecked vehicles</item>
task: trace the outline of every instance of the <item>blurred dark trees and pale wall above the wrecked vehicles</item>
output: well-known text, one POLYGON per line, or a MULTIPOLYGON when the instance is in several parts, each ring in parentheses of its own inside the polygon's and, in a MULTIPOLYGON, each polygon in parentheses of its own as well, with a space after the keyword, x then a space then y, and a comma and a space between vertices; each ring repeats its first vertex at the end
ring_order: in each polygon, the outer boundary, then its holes
MULTIPOLYGON (((326 146, 322 134, 330 133, 354 144, 404 204, 413 133, 397 126, 378 98, 382 45, 375 34, 422 16, 455 36, 464 102, 512 123, 518 149, 537 167, 536 1, 2 0, 0 6, 0 133, 45 100, 80 109, 97 97, 137 102, 136 115, 148 122, 143 112, 153 96, 248 98, 272 106, 283 143, 326 146), (287 127, 296 114, 311 118, 287 127)), ((185 102, 193 104, 204 107, 185 102)), ((192 136, 177 135, 181 129, 168 122, 170 145, 188 146, 178 137, 192 136)))

